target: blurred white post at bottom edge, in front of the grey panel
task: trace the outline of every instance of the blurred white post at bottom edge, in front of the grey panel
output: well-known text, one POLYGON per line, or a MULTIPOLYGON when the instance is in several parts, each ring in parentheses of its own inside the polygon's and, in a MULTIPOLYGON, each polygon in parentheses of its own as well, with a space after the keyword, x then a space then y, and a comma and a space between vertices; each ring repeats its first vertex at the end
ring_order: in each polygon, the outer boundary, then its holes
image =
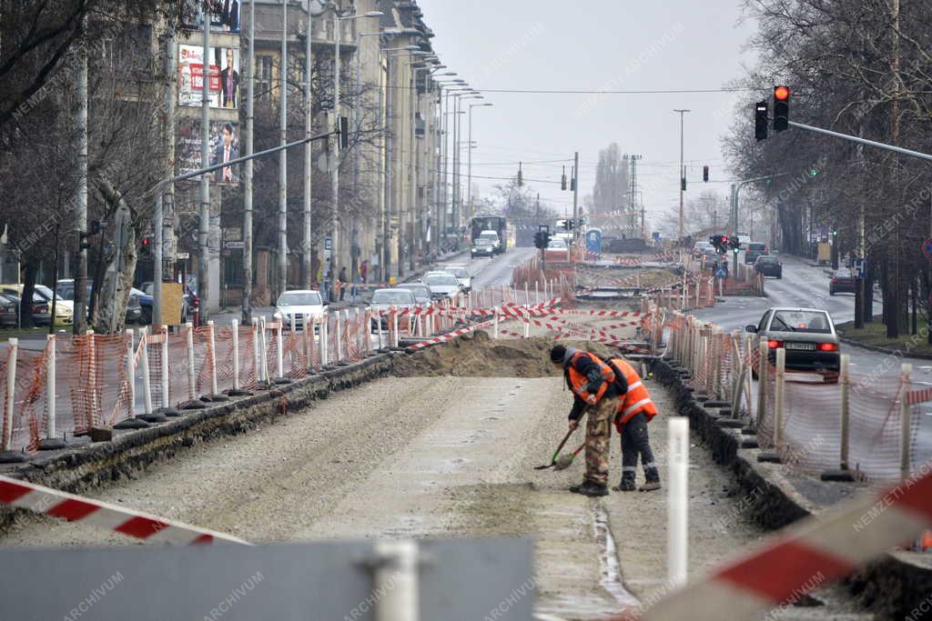
POLYGON ((419 621, 418 543, 410 539, 381 540, 376 543, 378 559, 373 592, 382 594, 376 602, 376 621, 419 621))

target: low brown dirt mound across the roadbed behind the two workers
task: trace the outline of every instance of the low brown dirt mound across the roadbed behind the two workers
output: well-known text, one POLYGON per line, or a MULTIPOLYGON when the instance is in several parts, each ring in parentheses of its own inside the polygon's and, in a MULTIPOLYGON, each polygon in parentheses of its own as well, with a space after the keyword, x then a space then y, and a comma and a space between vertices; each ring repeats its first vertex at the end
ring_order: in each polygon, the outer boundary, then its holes
MULTIPOLYGON (((399 377, 548 377, 560 371, 550 362, 555 340, 548 337, 493 340, 487 332, 476 331, 445 344, 433 345, 410 356, 394 358, 394 374, 399 377)), ((597 356, 612 354, 604 345, 563 344, 587 349, 597 356)))

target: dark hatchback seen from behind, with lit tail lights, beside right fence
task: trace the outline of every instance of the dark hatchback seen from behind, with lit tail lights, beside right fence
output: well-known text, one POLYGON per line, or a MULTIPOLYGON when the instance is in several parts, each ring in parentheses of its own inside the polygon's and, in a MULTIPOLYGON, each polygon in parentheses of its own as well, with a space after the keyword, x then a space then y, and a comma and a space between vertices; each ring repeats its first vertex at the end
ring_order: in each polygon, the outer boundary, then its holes
MULTIPOLYGON (((787 352, 787 369, 815 371, 835 383, 841 371, 839 338, 829 312, 821 308, 774 307, 761 322, 745 330, 767 339, 770 361, 776 362, 776 350, 787 352)), ((755 377, 757 376, 755 371, 755 377)))

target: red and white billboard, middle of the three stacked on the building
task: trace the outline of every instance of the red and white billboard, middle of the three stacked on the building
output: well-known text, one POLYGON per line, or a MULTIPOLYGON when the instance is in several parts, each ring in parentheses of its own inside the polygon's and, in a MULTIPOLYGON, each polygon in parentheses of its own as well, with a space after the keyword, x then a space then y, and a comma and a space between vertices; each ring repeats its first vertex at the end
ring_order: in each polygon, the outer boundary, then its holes
MULTIPOLYGON (((178 47, 178 104, 200 106, 204 88, 203 47, 178 47)), ((240 104, 240 49, 212 47, 208 97, 212 108, 236 109, 240 104)))

